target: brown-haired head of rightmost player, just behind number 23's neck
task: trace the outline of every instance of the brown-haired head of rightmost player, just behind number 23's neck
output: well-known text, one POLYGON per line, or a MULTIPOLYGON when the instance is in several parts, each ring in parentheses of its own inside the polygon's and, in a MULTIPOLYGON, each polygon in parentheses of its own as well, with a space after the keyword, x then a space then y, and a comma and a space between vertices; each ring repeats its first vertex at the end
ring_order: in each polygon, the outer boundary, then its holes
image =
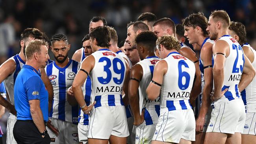
POLYGON ((239 44, 245 44, 247 42, 245 26, 241 22, 231 22, 228 28, 228 34, 236 39, 239 44))

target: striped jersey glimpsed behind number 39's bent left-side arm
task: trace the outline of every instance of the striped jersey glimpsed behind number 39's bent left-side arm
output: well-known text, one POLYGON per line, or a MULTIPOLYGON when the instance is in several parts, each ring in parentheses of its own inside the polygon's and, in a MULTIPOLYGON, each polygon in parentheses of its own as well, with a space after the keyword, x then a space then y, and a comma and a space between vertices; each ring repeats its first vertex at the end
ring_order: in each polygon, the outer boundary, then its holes
MULTIPOLYGON (((84 50, 84 48, 82 48, 82 50, 84 50)), ((80 60, 80 63, 82 63, 83 59, 85 59, 85 55, 84 52, 82 51, 82 59, 80 60), (84 56, 84 57, 83 57, 84 56)), ((84 96, 84 100, 87 106, 90 105, 91 103, 91 78, 90 76, 87 76, 83 87, 82 87, 82 91, 83 91, 83 96, 84 96)), ((79 112, 78 112, 78 122, 82 125, 89 125, 89 115, 83 113, 81 107, 79 107, 79 112)))

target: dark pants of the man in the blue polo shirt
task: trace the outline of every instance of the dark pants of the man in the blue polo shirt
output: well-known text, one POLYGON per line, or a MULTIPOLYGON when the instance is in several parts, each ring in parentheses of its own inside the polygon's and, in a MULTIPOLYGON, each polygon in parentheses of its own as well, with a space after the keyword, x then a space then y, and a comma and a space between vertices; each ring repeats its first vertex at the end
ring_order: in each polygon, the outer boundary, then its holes
POLYGON ((18 144, 50 144, 47 134, 44 138, 32 120, 17 120, 13 127, 13 136, 18 144))

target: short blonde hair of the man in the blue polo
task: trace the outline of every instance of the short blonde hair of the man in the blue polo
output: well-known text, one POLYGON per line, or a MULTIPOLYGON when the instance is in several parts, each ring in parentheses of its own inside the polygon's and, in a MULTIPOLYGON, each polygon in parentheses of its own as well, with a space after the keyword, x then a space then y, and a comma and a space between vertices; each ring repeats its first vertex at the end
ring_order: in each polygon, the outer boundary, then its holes
POLYGON ((48 43, 44 40, 31 41, 25 48, 25 55, 27 59, 33 56, 33 53, 41 54, 41 46, 48 46, 48 43))

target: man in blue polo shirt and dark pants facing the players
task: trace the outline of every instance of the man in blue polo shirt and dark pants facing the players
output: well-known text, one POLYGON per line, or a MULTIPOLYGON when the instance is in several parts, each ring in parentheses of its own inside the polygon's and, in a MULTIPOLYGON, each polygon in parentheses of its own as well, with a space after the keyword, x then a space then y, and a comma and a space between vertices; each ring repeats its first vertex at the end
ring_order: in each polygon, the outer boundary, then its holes
POLYGON ((18 144, 50 144, 45 128, 48 120, 48 92, 38 73, 49 59, 48 44, 32 41, 25 49, 26 65, 22 66, 14 85, 17 122, 13 136, 18 144))

